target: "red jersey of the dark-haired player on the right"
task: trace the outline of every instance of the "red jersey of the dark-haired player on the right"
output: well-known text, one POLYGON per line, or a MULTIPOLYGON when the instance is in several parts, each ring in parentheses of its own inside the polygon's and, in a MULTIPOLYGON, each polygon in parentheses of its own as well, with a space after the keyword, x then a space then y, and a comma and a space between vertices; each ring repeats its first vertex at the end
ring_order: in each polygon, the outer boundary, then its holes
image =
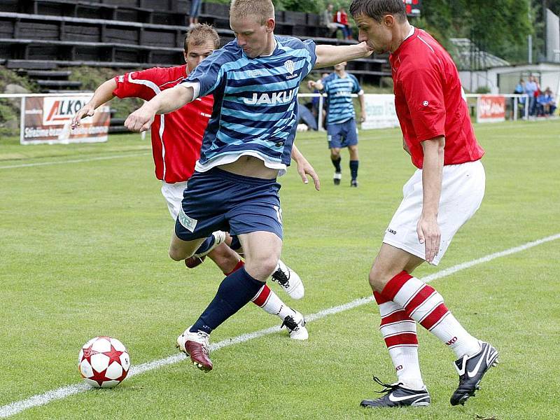
POLYGON ((414 29, 389 61, 395 108, 414 166, 422 168, 421 142, 440 136, 445 137, 444 165, 482 158, 457 67, 447 51, 426 31, 414 29))

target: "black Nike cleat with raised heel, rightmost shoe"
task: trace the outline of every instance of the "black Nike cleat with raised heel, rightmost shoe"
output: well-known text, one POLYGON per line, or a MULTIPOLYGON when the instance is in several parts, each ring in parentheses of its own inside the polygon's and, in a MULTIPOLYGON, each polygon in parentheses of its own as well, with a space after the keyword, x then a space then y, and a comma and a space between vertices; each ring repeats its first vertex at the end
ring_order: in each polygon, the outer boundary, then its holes
POLYGON ((498 364, 498 351, 491 344, 479 341, 480 351, 474 356, 463 356, 455 360, 455 368, 459 374, 459 386, 451 395, 451 405, 465 405, 480 389, 480 381, 487 370, 498 364))

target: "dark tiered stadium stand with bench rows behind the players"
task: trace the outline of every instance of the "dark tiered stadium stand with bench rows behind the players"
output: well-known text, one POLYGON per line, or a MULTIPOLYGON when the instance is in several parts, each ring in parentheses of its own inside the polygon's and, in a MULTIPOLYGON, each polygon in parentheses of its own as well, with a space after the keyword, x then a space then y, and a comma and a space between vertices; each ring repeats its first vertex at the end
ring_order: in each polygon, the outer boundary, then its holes
MULTIPOLYGON (((27 73, 45 92, 77 90, 60 67, 86 65, 119 69, 172 66, 183 62, 188 22, 186 0, 0 0, 0 63, 27 73)), ((216 27, 223 43, 234 38, 228 5, 202 4, 200 21, 216 27)), ((276 11, 276 33, 345 45, 325 38, 314 13, 276 11)), ((349 63, 360 81, 390 76, 385 57, 349 63)))

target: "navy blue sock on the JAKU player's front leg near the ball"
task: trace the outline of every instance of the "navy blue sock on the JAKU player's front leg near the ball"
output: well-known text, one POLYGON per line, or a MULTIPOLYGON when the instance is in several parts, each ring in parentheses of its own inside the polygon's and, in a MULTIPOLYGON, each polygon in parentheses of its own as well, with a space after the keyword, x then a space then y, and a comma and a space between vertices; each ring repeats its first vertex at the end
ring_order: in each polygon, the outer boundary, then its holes
POLYGON ((223 279, 218 287, 218 293, 207 309, 204 309, 190 331, 204 331, 210 334, 226 319, 251 302, 251 299, 264 285, 265 282, 253 279, 246 272, 245 267, 241 267, 223 279))

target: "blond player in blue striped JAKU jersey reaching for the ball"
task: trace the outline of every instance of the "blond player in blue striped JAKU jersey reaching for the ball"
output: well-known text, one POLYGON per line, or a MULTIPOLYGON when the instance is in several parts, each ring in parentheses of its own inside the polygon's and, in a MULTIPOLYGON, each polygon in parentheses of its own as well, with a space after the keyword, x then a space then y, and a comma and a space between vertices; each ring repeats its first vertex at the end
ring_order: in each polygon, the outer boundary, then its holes
POLYGON ((276 176, 290 156, 307 183, 316 173, 293 146, 297 91, 315 67, 370 55, 365 43, 315 45, 274 36, 270 0, 234 0, 230 27, 236 40, 212 53, 184 83, 158 94, 125 125, 148 130, 156 113, 167 113, 206 94, 214 109, 196 172, 185 190, 169 255, 184 260, 218 226, 237 235, 245 265, 223 279, 214 300, 177 339, 181 351, 211 370, 209 334, 253 299, 274 271, 282 248, 282 213, 276 176))

